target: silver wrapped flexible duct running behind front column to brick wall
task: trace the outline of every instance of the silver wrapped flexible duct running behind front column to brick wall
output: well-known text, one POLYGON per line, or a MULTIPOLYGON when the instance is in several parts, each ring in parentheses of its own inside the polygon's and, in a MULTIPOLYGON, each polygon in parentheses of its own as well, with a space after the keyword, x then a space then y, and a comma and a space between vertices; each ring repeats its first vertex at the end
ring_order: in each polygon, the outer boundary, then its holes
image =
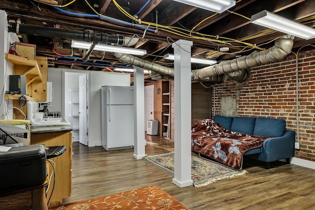
MULTIPOLYGON (((234 77, 237 78, 237 80, 244 81, 244 78, 246 79, 248 77, 246 69, 282 60, 290 54, 293 47, 293 39, 294 36, 292 35, 284 35, 275 41, 275 45, 273 47, 267 50, 252 53, 249 56, 240 57, 234 60, 221 61, 218 64, 207 66, 205 68, 192 70, 191 80, 202 80, 204 78, 211 78, 235 72, 233 74, 229 74, 229 76, 231 76, 231 78, 234 77), (239 75, 237 74, 244 75, 243 79, 238 78, 239 75)), ((161 75, 174 77, 173 68, 167 68, 127 54, 115 53, 115 56, 124 63, 151 70, 161 75)))

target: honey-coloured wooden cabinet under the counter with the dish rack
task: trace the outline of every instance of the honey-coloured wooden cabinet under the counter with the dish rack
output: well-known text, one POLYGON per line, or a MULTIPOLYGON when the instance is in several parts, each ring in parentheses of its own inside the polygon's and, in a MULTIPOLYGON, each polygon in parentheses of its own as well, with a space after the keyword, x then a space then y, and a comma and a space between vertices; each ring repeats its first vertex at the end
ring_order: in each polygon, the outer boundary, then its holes
MULTIPOLYGON (((31 145, 44 144, 45 147, 50 146, 66 146, 67 150, 51 160, 55 162, 55 187, 49 206, 56 206, 62 204, 63 198, 70 197, 72 189, 72 137, 71 131, 63 132, 46 132, 46 133, 32 133, 31 132, 31 145)), ((49 171, 52 172, 52 166, 49 171)), ((52 178, 53 181, 54 178, 52 178)), ((53 183, 53 182, 51 182, 53 183)), ((53 184, 50 184, 47 198, 49 198, 52 191, 53 184)), ((47 199, 48 200, 48 199, 47 199)))

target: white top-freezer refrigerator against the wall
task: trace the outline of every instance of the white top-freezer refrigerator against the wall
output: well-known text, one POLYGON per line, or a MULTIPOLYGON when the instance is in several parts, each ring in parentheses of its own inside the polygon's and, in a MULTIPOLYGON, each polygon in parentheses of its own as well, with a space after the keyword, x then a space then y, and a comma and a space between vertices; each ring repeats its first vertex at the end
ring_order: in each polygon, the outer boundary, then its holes
POLYGON ((133 87, 101 87, 101 144, 105 150, 134 146, 133 87))

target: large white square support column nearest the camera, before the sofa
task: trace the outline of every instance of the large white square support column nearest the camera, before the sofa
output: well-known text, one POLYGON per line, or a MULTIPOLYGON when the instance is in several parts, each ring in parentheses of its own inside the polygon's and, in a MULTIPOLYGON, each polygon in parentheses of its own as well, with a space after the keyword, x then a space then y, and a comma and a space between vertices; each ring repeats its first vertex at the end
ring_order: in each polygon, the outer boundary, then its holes
POLYGON ((173 183, 186 187, 191 180, 191 46, 192 41, 178 40, 174 48, 174 179, 173 183))

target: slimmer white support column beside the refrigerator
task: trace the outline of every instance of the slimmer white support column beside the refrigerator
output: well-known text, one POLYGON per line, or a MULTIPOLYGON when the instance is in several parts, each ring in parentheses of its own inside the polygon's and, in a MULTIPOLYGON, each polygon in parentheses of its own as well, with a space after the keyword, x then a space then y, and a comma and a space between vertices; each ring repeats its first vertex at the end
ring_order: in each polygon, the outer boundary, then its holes
POLYGON ((145 153, 145 135, 144 135, 144 73, 143 68, 134 66, 134 150, 133 157, 141 159, 146 156, 145 153))

